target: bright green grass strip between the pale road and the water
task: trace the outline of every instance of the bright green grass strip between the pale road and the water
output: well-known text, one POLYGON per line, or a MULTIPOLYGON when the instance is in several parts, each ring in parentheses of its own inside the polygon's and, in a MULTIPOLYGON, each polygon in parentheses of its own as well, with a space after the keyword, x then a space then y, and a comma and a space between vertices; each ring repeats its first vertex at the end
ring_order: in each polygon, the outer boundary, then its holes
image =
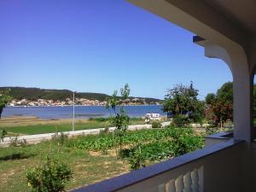
MULTIPOLYGON (((1 121, 0 121, 1 122, 1 121)), ((143 124, 143 119, 132 118, 131 125, 143 124)), ((9 123, 11 124, 11 122, 9 123)), ((88 120, 76 120, 75 130, 87 130, 87 129, 96 129, 96 128, 105 128, 110 127, 111 122, 108 119, 88 119, 88 120)), ((0 131, 6 130, 9 133, 9 136, 14 134, 22 135, 33 135, 33 134, 43 134, 43 133, 52 133, 56 131, 72 131, 72 123, 67 121, 65 123, 60 123, 59 121, 49 121, 48 124, 37 124, 35 122, 33 125, 4 125, 0 124, 0 131)))

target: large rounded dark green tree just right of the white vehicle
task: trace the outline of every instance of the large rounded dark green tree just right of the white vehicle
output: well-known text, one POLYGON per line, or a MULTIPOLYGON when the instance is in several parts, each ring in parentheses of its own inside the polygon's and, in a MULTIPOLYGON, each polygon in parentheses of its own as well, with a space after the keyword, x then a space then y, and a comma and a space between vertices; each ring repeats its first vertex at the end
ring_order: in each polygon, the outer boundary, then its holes
MULTIPOLYGON (((177 84, 168 90, 162 110, 172 113, 174 120, 181 119, 184 124, 196 122, 202 118, 205 106, 197 96, 198 90, 195 90, 193 82, 189 86, 177 84)), ((178 124, 178 126, 182 125, 183 123, 178 124)))

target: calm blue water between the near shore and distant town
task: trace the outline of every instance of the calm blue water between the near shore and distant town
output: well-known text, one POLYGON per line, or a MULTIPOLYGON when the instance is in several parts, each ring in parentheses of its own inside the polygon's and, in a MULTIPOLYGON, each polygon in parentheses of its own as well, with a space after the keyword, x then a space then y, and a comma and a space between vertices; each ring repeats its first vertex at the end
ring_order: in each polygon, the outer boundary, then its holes
MULTIPOLYGON (((142 117, 146 113, 160 113, 162 106, 125 106, 125 111, 131 117, 142 117)), ((108 117, 109 110, 103 106, 78 106, 75 107, 75 118, 89 119, 93 117, 108 117)), ((73 107, 8 107, 3 109, 2 116, 8 117, 13 115, 36 116, 41 119, 70 119, 73 118, 73 107)))

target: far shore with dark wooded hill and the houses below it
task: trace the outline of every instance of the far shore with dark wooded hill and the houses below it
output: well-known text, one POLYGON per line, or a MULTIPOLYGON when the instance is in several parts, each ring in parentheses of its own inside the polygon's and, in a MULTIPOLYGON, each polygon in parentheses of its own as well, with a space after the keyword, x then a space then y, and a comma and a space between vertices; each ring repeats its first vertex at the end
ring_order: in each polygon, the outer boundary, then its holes
MULTIPOLYGON (((73 91, 49 90, 27 87, 0 87, 1 90, 9 90, 12 101, 9 106, 71 106, 73 105, 73 91)), ((107 94, 92 92, 75 92, 75 105, 79 106, 105 106, 107 94)), ((158 105, 160 99, 149 97, 129 97, 120 101, 125 105, 158 105)))

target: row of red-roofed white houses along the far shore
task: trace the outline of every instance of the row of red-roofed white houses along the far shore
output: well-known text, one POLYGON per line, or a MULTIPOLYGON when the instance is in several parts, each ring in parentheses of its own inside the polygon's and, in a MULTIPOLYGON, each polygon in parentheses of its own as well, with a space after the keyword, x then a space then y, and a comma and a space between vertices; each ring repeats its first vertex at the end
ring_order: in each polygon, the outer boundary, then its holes
MULTIPOLYGON (((132 98, 126 99, 125 101, 120 101, 125 105, 159 105, 159 102, 145 102, 145 99, 142 98, 132 98)), ((89 100, 85 98, 75 98, 74 105, 77 106, 105 106, 106 101, 101 102, 99 100, 89 100)), ((52 100, 52 99, 38 99, 36 101, 31 101, 28 99, 17 100, 14 99, 9 102, 9 107, 16 106, 28 106, 28 107, 44 107, 44 106, 71 106, 73 105, 73 99, 67 98, 65 101, 52 100)))

